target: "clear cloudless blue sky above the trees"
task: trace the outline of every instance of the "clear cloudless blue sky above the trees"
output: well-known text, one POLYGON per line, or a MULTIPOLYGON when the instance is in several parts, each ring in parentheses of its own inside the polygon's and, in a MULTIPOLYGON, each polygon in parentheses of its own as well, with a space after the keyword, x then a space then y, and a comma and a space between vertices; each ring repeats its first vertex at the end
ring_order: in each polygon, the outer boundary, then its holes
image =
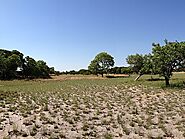
POLYGON ((0 48, 60 71, 86 69, 100 52, 127 66, 164 39, 185 40, 185 0, 0 0, 0 48))

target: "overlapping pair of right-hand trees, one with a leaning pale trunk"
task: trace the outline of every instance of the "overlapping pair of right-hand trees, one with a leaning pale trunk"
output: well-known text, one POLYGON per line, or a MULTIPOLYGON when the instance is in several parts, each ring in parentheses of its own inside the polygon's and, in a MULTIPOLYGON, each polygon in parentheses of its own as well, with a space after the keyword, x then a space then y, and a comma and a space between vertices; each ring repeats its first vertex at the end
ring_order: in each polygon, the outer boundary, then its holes
POLYGON ((135 73, 139 74, 138 78, 146 73, 159 74, 165 78, 165 84, 168 86, 173 71, 185 67, 185 42, 165 40, 163 46, 155 43, 152 45, 151 54, 129 55, 126 59, 127 63, 135 73))

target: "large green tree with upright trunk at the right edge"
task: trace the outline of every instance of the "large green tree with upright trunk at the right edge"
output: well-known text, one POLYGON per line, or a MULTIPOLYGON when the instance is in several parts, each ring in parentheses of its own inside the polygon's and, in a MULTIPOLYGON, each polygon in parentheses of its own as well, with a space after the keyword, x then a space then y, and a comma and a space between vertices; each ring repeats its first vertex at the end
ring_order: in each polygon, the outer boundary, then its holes
POLYGON ((165 78, 166 86, 175 69, 185 66, 185 42, 168 42, 165 45, 153 44, 153 63, 155 70, 165 78))

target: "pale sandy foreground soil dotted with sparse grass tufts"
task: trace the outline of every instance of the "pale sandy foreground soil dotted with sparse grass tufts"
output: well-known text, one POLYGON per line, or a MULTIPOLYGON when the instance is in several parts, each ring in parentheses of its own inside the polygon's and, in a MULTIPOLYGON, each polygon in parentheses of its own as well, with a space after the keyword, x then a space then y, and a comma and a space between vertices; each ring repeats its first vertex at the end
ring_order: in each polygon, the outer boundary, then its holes
POLYGON ((0 139, 184 139, 185 90, 71 85, 1 92, 0 139))

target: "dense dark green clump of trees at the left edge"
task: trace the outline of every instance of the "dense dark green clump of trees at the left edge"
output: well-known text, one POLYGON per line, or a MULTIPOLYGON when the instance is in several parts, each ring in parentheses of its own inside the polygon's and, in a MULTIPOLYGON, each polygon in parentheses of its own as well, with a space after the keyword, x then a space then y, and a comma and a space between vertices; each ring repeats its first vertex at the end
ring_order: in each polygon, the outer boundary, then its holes
POLYGON ((0 49, 0 79, 18 79, 18 78, 50 78, 54 74, 53 67, 49 67, 43 60, 26 56, 17 50, 0 49))

